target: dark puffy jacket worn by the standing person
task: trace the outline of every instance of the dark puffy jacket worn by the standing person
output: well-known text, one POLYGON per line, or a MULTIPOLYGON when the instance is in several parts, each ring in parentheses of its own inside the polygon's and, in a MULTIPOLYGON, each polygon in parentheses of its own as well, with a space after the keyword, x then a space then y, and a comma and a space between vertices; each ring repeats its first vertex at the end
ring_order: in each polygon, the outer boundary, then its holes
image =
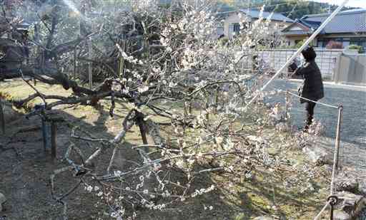
MULTIPOLYGON (((302 75, 304 83, 300 91, 300 96, 310 100, 320 100, 324 97, 324 88, 322 82, 322 74, 314 60, 307 61, 304 66, 298 68, 294 75, 302 75)), ((307 100, 300 98, 300 103, 307 100)))

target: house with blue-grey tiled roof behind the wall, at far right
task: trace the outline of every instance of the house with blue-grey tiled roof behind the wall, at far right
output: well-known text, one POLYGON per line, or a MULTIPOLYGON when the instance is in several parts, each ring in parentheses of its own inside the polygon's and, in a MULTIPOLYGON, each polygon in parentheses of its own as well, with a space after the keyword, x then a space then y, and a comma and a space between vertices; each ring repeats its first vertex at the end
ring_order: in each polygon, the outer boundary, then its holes
MULTIPOLYGON (((310 36, 330 14, 310 14, 295 21, 282 30, 289 46, 295 46, 310 36)), ((344 48, 353 44, 366 48, 366 9, 342 11, 319 33, 315 46, 325 48, 330 41, 336 41, 344 48)))

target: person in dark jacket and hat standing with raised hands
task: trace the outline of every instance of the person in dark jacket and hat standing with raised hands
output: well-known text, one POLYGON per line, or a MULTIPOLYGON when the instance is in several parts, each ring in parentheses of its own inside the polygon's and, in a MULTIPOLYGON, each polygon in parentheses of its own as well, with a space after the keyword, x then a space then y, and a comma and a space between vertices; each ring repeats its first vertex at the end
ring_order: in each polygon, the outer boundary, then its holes
POLYGON ((299 89, 299 95, 301 97, 300 103, 305 103, 305 110, 307 112, 304 126, 304 131, 307 132, 309 126, 312 124, 316 105, 316 103, 312 101, 317 101, 324 97, 324 88, 322 74, 320 73, 317 63, 315 63, 317 54, 314 49, 308 46, 302 51, 302 56, 305 58, 305 64, 302 67, 295 68, 294 65, 290 67, 295 69, 292 75, 300 75, 304 78, 302 88, 299 89))

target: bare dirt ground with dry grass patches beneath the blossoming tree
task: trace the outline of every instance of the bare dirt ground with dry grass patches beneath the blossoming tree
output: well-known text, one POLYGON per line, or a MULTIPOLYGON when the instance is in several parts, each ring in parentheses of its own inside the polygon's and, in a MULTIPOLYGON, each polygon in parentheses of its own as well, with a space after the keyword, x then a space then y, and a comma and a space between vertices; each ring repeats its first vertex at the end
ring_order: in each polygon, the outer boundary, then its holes
MULTIPOLYGON (((0 86, 1 91, 11 93, 18 98, 24 98, 31 93, 31 90, 19 81, 2 83, 0 86)), ((37 85, 37 88, 47 93, 49 90, 47 86, 37 85)), ((60 93, 64 92, 60 90, 60 93)), ((44 152, 39 117, 31 117, 27 120, 24 116, 20 116, 6 123, 6 135, 0 137, 0 192, 8 201, 4 205, 5 211, 0 213, 0 217, 3 218, 0 218, 1 220, 61 219, 62 206, 51 198, 50 175, 54 169, 66 165, 62 162, 62 158, 70 144, 71 127, 69 125, 84 127, 96 137, 114 137, 119 132, 120 123, 127 110, 121 104, 120 108, 115 110, 115 117, 112 118, 109 117, 108 105, 108 103, 102 103, 102 107, 97 109, 83 105, 63 106, 56 110, 65 122, 61 122, 58 126, 57 159, 54 161, 51 160, 50 152, 44 152), (24 127, 36 128, 18 132, 24 127)), ((131 145, 141 142, 137 128, 127 133, 127 143, 120 153, 121 159, 137 158, 137 153, 131 149, 131 145)), ((97 144, 86 146, 80 143, 80 145, 86 154, 91 154, 93 147, 97 147, 93 146, 97 144)), ((99 159, 97 166, 105 167, 111 155, 112 152, 107 151, 99 159)), ((283 216, 282 219, 311 219, 311 216, 321 209, 324 201, 324 196, 319 192, 299 197, 297 194, 286 192, 280 186, 264 184, 265 179, 259 179, 262 182, 227 186, 220 178, 203 177, 201 180, 205 184, 212 182, 222 186, 210 194, 185 201, 177 208, 162 212, 142 210, 137 219, 240 220, 272 214, 283 216), (213 206, 213 210, 205 210, 204 204, 213 206), (274 205, 277 206, 276 210, 271 208, 274 205)), ((56 177, 56 190, 65 192, 76 182, 77 178, 66 172, 56 177)), ((319 189, 321 189, 320 186, 319 189)), ((69 219, 109 219, 103 214, 103 209, 94 207, 97 199, 88 194, 84 187, 76 189, 66 201, 69 219)))

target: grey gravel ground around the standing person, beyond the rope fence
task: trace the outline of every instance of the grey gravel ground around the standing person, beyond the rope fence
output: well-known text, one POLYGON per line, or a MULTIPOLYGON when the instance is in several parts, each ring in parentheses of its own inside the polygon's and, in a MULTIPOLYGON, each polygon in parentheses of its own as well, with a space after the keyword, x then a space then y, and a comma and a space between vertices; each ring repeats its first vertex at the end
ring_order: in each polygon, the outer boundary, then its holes
MULTIPOLYGON (((286 90, 289 88, 293 93, 297 93, 299 81, 285 83, 283 80, 275 80, 267 90, 274 88, 286 90)), ((281 102, 285 104, 285 96, 278 95, 266 98, 265 102, 281 102)), ((341 157, 348 158, 352 164, 358 164, 357 168, 366 169, 366 87, 356 87, 350 85, 325 84, 325 98, 320 100, 322 103, 344 106, 341 140, 344 150, 340 152, 341 157)), ((305 119, 304 105, 300 104, 299 98, 292 99, 292 119, 293 124, 302 127, 305 119)), ((338 110, 316 105, 315 119, 320 120, 326 127, 325 140, 327 144, 334 146, 336 135, 338 110)))

